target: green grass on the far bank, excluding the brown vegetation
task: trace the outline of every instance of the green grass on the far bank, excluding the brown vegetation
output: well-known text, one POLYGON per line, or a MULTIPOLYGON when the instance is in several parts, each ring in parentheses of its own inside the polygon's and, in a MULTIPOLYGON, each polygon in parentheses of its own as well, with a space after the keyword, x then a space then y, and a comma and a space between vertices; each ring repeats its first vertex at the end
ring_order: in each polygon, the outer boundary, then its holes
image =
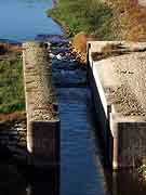
POLYGON ((98 0, 57 0, 57 6, 48 11, 70 36, 79 31, 93 34, 95 37, 110 39, 111 10, 98 0))

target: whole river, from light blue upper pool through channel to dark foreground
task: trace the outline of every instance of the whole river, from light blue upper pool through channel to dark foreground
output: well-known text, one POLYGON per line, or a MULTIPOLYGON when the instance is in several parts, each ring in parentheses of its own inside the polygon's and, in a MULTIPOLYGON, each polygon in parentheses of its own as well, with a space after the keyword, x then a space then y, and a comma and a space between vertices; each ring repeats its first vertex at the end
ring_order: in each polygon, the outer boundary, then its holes
MULTIPOLYGON (((2 0, 0 39, 25 41, 38 35, 62 35, 61 27, 45 16, 45 10, 52 5, 51 0, 2 0)), ((66 46, 62 47, 62 51, 59 43, 53 48, 54 54, 67 54, 66 46)), ((90 88, 72 87, 85 80, 85 73, 76 63, 66 56, 63 61, 53 60, 54 79, 62 86, 56 88, 62 120, 61 186, 57 186, 61 195, 144 195, 146 181, 136 171, 112 172, 105 166, 90 88)), ((25 177, 22 179, 22 172, 11 161, 8 169, 2 160, 0 165, 0 194, 54 195, 49 174, 29 182, 25 177)))

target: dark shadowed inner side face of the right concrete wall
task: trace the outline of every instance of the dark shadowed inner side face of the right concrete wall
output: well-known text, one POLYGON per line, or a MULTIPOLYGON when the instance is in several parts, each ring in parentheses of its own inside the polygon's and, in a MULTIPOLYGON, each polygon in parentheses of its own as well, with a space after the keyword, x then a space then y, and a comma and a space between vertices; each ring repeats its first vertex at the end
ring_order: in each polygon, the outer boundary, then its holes
POLYGON ((112 157, 112 135, 109 129, 109 121, 105 115, 105 110, 99 98, 97 87, 95 84, 94 76, 90 66, 88 67, 88 83, 91 90, 92 100, 92 120, 96 127, 95 138, 97 145, 102 148, 102 156, 104 156, 104 166, 111 167, 112 157))

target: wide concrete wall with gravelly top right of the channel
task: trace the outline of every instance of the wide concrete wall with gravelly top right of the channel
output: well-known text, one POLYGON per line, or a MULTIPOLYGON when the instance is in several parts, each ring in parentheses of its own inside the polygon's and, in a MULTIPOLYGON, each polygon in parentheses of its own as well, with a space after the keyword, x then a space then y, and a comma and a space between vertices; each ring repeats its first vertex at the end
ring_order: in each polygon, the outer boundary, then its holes
MULTIPOLYGON (((112 167, 143 164, 146 157, 146 43, 96 41, 89 47, 93 90, 99 95, 103 121, 107 121, 103 134, 112 167)), ((96 109, 98 102, 95 102, 96 109)))

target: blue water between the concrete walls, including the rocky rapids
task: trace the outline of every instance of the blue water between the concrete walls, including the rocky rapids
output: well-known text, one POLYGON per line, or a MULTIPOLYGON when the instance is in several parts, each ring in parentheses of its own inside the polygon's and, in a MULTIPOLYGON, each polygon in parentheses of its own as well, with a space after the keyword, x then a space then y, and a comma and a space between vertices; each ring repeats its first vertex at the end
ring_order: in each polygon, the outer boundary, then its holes
POLYGON ((95 126, 87 74, 69 55, 66 44, 52 49, 61 115, 61 195, 104 194, 104 174, 99 159, 95 158, 95 126))

